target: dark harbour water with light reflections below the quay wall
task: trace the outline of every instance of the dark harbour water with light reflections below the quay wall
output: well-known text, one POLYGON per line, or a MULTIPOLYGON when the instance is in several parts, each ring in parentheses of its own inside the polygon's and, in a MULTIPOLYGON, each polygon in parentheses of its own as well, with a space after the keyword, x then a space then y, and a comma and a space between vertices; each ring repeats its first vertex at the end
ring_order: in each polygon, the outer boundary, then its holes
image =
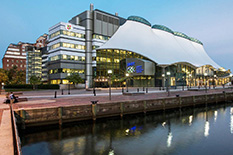
POLYGON ((231 155, 233 104, 40 127, 20 136, 23 155, 231 155))

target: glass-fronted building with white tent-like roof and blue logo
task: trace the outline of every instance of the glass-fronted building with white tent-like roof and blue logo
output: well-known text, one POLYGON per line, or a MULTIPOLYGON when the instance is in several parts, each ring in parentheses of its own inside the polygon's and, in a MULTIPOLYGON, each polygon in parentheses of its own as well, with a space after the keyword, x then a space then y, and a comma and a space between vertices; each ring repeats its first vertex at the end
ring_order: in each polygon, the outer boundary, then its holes
POLYGON ((124 25, 96 51, 95 85, 106 86, 108 70, 115 84, 130 86, 201 86, 224 84, 230 71, 216 64, 203 43, 163 25, 130 16, 124 25))

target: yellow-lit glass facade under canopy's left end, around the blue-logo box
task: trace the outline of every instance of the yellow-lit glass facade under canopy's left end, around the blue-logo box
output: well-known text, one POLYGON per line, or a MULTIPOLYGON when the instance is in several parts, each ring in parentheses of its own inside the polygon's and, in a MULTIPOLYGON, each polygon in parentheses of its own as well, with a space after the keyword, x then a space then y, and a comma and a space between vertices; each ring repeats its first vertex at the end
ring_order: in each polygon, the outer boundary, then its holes
MULTIPOLYGON (((126 67, 124 65, 124 60, 126 58, 139 58, 143 60, 149 60, 140 54, 117 49, 106 49, 97 50, 96 57, 93 60, 96 61, 97 66, 94 69, 95 85, 96 86, 107 86, 108 70, 112 70, 112 75, 114 75, 113 85, 121 86, 125 84, 126 81, 126 67), (123 63, 122 63, 123 62, 123 63), (96 71, 96 73, 95 73, 96 71)), ((154 86, 153 76, 137 76, 129 78, 129 85, 131 86, 154 86)))

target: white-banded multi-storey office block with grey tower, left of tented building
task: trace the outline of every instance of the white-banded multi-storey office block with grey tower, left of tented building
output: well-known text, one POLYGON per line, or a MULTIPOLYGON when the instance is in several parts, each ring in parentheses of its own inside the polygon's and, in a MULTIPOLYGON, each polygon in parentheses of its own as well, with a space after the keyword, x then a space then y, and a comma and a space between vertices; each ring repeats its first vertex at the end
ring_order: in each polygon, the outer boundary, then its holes
POLYGON ((79 73, 92 87, 96 72, 96 48, 103 45, 125 22, 117 14, 93 9, 73 17, 68 23, 60 22, 49 28, 48 81, 68 84, 66 77, 79 73))

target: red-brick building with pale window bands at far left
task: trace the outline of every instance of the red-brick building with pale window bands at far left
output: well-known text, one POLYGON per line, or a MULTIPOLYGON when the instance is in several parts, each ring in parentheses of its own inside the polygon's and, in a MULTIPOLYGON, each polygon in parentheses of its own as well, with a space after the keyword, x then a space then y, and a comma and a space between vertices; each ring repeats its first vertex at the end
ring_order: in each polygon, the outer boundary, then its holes
POLYGON ((18 70, 26 70, 26 51, 25 47, 32 45, 30 43, 18 44, 11 43, 2 58, 3 69, 9 70, 13 66, 16 66, 18 70))

